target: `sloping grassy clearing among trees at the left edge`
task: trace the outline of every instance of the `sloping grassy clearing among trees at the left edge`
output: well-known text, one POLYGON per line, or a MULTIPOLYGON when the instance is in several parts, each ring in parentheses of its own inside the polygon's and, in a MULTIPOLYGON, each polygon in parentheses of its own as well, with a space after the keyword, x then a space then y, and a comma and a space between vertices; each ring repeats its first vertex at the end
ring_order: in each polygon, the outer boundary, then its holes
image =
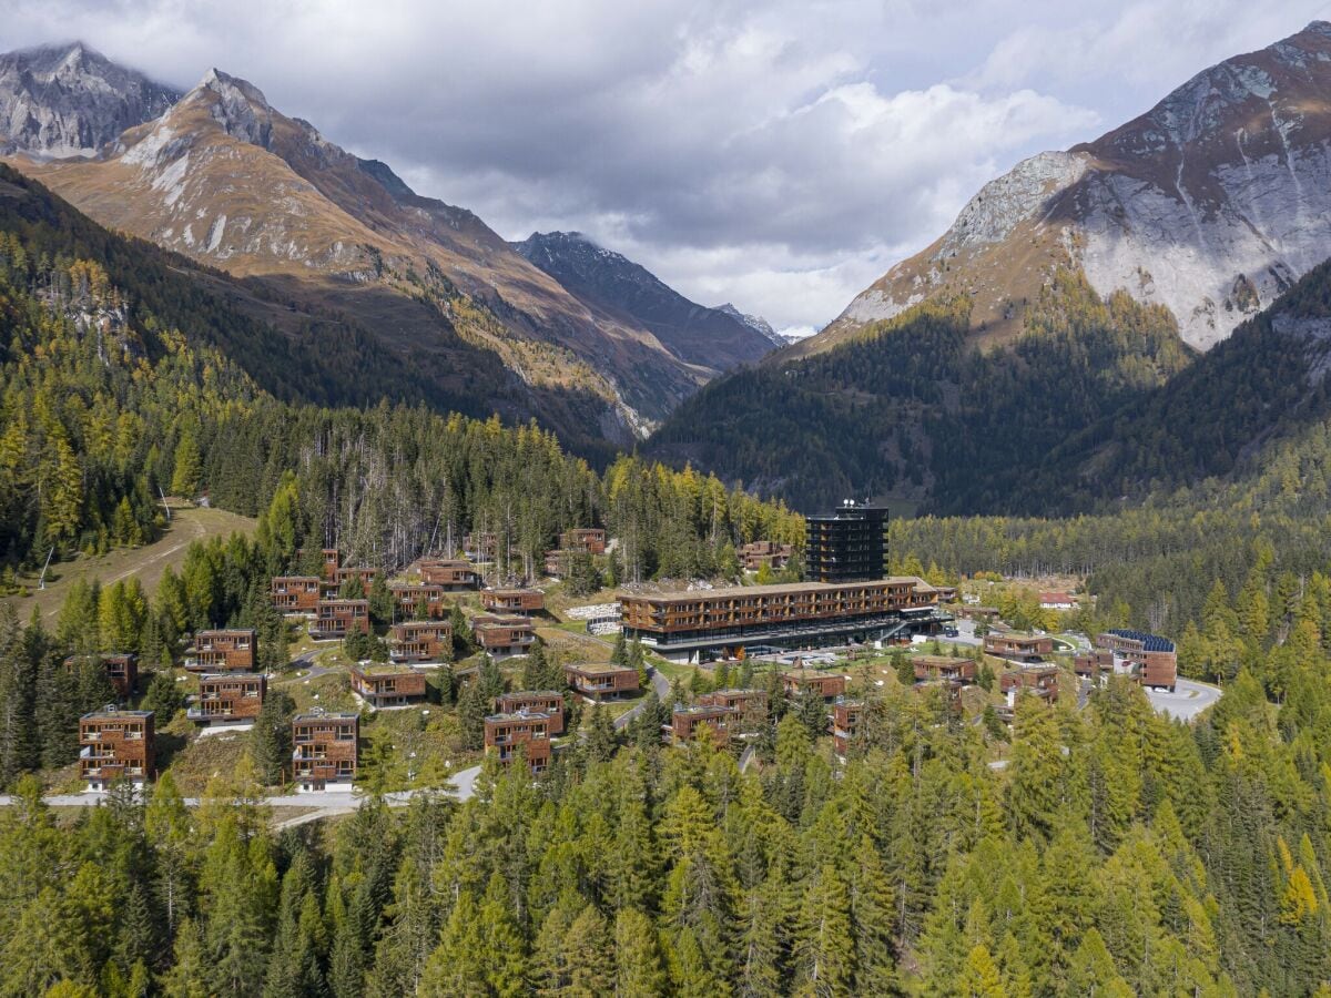
POLYGON ((37 591, 37 575, 20 579, 32 591, 28 596, 5 596, 0 603, 11 604, 20 620, 32 615, 32 608, 41 611, 43 620, 52 621, 60 611, 65 592, 77 579, 100 579, 104 584, 137 575, 144 589, 150 595, 157 587, 166 566, 178 570, 185 562, 185 550, 194 540, 226 538, 232 534, 250 534, 254 520, 237 516, 225 510, 204 510, 184 507, 174 510, 170 526, 160 540, 144 547, 116 548, 105 555, 84 558, 51 566, 47 572, 47 588, 37 591))

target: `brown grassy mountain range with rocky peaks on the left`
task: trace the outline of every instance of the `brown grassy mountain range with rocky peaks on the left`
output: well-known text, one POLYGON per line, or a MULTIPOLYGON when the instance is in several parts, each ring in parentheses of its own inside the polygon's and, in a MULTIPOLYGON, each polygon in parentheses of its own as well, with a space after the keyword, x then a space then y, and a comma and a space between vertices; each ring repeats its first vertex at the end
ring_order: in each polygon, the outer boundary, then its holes
POLYGON ((234 307, 289 335, 311 319, 321 337, 354 329, 465 409, 539 418, 575 447, 632 443, 771 347, 640 267, 675 313, 590 294, 611 279, 586 267, 575 293, 471 212, 415 194, 218 69, 181 94, 81 43, 9 53, 0 149, 93 220, 242 278, 226 287, 234 307))

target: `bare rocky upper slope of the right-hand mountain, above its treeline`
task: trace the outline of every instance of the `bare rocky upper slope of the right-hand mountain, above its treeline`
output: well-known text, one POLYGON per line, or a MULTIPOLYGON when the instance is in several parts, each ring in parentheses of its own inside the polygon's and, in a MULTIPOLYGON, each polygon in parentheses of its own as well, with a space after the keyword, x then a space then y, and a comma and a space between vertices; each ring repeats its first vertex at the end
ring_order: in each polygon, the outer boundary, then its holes
POLYGON ((1206 350, 1331 255, 1331 24, 1197 73, 1099 138, 986 184, 932 246, 862 291, 816 351, 964 291, 978 335, 1021 329, 1054 269, 1166 306, 1206 350))

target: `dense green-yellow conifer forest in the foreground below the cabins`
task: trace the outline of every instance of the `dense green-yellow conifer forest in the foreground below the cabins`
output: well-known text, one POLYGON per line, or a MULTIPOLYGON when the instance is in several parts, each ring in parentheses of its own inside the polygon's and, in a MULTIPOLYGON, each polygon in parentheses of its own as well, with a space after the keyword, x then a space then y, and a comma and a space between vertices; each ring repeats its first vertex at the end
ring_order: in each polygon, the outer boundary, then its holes
POLYGON ((1002 773, 933 693, 845 768, 777 705, 761 770, 591 737, 465 805, 269 830, 256 773, 71 825, 0 812, 0 993, 1304 995, 1331 974, 1331 701, 1240 672, 1195 729, 1115 680, 1018 704, 1002 773), (49 990, 55 987, 55 990, 49 990))

